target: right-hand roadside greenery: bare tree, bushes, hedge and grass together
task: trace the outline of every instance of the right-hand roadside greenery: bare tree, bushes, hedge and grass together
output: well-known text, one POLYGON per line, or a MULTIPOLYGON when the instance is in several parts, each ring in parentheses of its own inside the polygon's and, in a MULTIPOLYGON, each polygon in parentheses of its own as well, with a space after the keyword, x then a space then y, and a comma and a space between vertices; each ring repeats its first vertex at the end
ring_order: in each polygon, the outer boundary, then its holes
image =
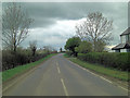
POLYGON ((86 21, 76 25, 76 36, 67 39, 65 57, 83 68, 129 81, 130 53, 107 52, 105 49, 113 39, 112 29, 113 21, 100 12, 89 13, 86 21))

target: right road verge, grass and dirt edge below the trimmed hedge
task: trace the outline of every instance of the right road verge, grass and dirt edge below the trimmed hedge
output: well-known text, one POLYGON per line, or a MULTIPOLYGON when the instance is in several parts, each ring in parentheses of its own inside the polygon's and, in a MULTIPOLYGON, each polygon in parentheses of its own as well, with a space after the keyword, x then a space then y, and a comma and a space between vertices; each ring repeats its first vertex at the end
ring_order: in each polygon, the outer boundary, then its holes
MULTIPOLYGON (((72 63, 75 63, 76 65, 82 68, 82 70, 87 70, 87 71, 89 71, 89 72, 91 72, 91 73, 93 73, 93 74, 95 74, 95 75, 99 75, 99 76, 101 76, 101 77, 104 77, 104 78, 108 79, 109 82, 112 82, 112 83, 113 83, 114 85, 116 85, 116 86, 121 86, 121 87, 128 89, 128 83, 129 83, 129 82, 126 79, 126 77, 125 77, 125 79, 123 79, 123 78, 120 79, 120 78, 118 78, 118 77, 114 77, 113 75, 109 75, 109 74, 108 74, 108 73, 110 73, 109 70, 114 71, 115 74, 118 74, 118 75, 120 75, 121 73, 118 73, 118 72, 116 72, 116 71, 113 70, 113 69, 107 69, 107 68, 94 65, 94 64, 91 64, 91 63, 87 63, 87 62, 81 61, 81 60, 79 60, 79 59, 77 59, 77 58, 67 57, 66 54, 65 54, 64 57, 67 58, 72 63), (107 74, 104 73, 104 71, 103 71, 102 68, 105 69, 105 72, 107 72, 107 74), (108 70, 108 71, 107 71, 107 70, 108 70), (100 72, 100 71, 101 71, 101 72, 100 72)), ((110 74, 112 74, 112 73, 110 73, 110 74)), ((123 76, 123 75, 128 76, 127 72, 123 73, 122 76, 123 76)))

